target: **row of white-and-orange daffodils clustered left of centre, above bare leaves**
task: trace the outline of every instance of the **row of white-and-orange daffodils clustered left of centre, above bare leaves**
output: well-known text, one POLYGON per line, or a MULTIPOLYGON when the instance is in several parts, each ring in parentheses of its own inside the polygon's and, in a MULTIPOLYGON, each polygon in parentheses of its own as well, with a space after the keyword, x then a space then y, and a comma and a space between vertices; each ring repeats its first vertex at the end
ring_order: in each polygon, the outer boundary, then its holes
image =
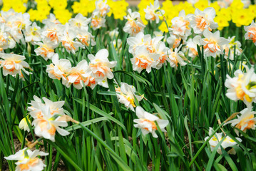
POLYGON ((96 56, 88 55, 90 63, 86 60, 80 61, 75 67, 71 67, 71 62, 67 59, 58 59, 58 54, 53 56, 46 72, 52 79, 62 79, 63 85, 70 87, 73 85, 77 89, 83 86, 94 88, 97 84, 108 88, 108 79, 113 78, 111 68, 116 66, 116 61, 108 61, 108 50, 101 49, 96 56))

